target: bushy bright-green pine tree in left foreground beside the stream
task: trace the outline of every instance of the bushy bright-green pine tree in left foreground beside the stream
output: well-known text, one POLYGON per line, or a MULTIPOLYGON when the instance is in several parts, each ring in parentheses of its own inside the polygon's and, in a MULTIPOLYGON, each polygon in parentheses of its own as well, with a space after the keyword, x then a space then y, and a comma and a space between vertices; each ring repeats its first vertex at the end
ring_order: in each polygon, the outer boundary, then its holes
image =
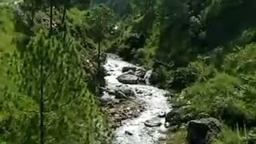
POLYGON ((26 50, 15 54, 11 75, 20 93, 37 106, 27 121, 30 135, 16 143, 38 143, 38 139, 41 143, 108 142, 106 118, 86 87, 81 51, 70 33, 48 38, 41 31, 26 50))

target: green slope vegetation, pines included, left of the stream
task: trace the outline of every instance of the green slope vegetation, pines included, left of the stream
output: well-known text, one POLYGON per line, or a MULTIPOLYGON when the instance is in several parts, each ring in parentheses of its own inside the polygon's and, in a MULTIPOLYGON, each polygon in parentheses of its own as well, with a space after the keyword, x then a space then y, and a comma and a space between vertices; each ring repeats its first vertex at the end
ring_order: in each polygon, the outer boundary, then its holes
POLYGON ((0 10, 0 142, 108 143, 86 11, 30 4, 0 10))

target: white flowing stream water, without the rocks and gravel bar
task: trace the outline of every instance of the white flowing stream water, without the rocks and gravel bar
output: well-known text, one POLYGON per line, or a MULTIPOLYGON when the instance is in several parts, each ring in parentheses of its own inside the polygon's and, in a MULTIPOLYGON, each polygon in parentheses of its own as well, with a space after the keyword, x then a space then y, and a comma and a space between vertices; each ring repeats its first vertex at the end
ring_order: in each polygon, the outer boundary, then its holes
MULTIPOLYGON (((106 58, 106 64, 104 65, 108 76, 106 79, 106 87, 108 89, 114 89, 116 86, 121 86, 122 83, 118 82, 117 78, 122 74, 122 67, 134 66, 129 62, 123 61, 121 58, 114 54, 108 54, 106 58)), ((150 72, 151 73, 151 72, 150 72)), ((150 74, 146 74, 148 75, 150 74)), ((146 81, 148 83, 148 81, 146 81)), ((165 90, 160 90, 157 87, 149 85, 128 85, 130 89, 140 91, 136 94, 137 100, 143 102, 146 110, 144 110, 138 118, 127 119, 122 122, 122 126, 115 130, 116 138, 114 144, 158 144, 165 143, 160 142, 159 139, 164 139, 166 134, 163 132, 166 130, 164 126, 165 119, 158 118, 160 112, 168 112, 170 107, 168 106, 165 90), (144 122, 154 119, 157 122, 162 122, 162 126, 147 127, 144 122), (131 134, 126 134, 129 131, 131 134)))

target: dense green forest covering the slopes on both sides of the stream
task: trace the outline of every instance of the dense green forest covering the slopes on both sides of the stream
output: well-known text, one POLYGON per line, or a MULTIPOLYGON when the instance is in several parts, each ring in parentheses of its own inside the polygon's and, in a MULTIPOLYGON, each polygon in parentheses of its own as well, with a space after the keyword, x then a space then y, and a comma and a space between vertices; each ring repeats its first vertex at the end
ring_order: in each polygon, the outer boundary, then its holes
POLYGON ((111 143, 107 53, 170 92, 167 144, 256 143, 254 14, 255 0, 0 0, 0 143, 111 143), (222 128, 192 141, 202 118, 222 128))

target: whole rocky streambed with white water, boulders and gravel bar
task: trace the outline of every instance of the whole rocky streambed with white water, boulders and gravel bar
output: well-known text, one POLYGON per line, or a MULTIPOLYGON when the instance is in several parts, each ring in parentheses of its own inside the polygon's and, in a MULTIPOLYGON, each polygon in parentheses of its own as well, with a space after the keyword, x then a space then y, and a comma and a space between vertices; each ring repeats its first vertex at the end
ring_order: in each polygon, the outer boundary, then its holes
POLYGON ((149 86, 146 70, 114 54, 108 54, 104 67, 106 87, 101 100, 114 122, 113 143, 164 143, 165 115, 170 111, 167 91, 149 86))

